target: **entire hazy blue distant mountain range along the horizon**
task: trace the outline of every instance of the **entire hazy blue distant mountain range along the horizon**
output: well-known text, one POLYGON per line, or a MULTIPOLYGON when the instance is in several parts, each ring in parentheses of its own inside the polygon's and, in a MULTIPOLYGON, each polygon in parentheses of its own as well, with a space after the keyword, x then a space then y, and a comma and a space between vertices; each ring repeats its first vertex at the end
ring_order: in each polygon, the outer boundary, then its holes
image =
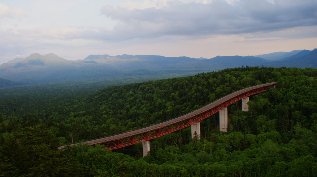
POLYGON ((70 61, 55 54, 32 54, 0 65, 3 83, 41 83, 107 77, 158 75, 215 71, 241 66, 317 68, 317 49, 275 52, 258 56, 216 56, 214 58, 165 57, 156 55, 89 55, 70 61))

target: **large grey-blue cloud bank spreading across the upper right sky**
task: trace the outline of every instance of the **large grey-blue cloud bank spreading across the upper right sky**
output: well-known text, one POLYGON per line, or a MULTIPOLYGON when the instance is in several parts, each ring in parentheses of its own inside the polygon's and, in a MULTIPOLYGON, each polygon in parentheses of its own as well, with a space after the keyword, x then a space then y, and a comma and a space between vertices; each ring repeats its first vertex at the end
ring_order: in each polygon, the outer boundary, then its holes
POLYGON ((123 37, 121 34, 126 34, 126 38, 242 34, 317 25, 315 0, 197 2, 128 2, 116 8, 105 6, 101 14, 119 22, 114 27, 114 34, 118 34, 118 38, 123 37))

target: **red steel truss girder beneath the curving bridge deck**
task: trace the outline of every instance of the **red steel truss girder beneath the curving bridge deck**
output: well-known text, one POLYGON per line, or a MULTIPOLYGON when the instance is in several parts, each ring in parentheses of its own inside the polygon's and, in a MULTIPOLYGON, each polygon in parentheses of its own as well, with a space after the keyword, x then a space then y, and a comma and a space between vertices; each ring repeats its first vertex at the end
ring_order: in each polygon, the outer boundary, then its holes
MULTIPOLYGON (((139 134, 128 136, 128 137, 123 137, 123 138, 111 140, 108 142, 102 142, 102 144, 104 144, 106 148, 113 150, 113 149, 122 148, 122 147, 125 147, 128 145, 140 143, 142 141, 147 141, 150 139, 161 137, 165 134, 175 132, 175 131, 180 130, 180 129, 185 128, 185 127, 189 127, 192 124, 199 122, 199 121, 217 113, 219 110, 229 106, 230 104, 241 100, 244 97, 249 97, 251 95, 266 91, 267 88, 274 88, 274 86, 275 85, 267 86, 267 87, 260 87, 260 88, 254 89, 254 90, 250 90, 250 91, 241 93, 235 97, 232 97, 232 98, 224 101, 223 103, 218 104, 215 107, 204 110, 203 112, 199 113, 198 115, 188 117, 185 120, 172 123, 172 124, 167 125, 165 127, 160 127, 158 129, 155 129, 155 130, 150 130, 148 132, 139 133, 139 134)), ((127 133, 127 135, 128 135, 128 133, 127 133)))

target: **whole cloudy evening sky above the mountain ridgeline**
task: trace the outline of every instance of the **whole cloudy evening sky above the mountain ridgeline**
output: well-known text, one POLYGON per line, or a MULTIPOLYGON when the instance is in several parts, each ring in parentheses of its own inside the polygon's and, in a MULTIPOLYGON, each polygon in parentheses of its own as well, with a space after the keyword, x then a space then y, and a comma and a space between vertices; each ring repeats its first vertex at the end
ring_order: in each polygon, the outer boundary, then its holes
POLYGON ((212 58, 314 48, 316 0, 0 0, 0 64, 32 53, 212 58))

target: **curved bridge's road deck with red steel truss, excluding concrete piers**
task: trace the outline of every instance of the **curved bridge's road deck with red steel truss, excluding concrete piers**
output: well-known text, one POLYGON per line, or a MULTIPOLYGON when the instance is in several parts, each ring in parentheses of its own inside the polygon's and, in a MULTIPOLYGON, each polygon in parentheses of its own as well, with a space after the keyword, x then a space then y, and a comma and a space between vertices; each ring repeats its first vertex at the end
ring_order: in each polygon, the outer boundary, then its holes
MULTIPOLYGON (((106 148, 113 150, 122 148, 125 146, 133 145, 143 141, 148 141, 168 133, 175 132, 185 127, 189 127, 215 113, 219 110, 226 108, 232 103, 235 103, 242 98, 249 97, 251 95, 267 91, 270 88, 275 88, 277 82, 271 82, 261 84, 257 86, 251 86, 239 91, 230 93, 224 97, 217 99, 216 101, 209 103, 199 109, 196 109, 185 115, 178 116, 168 121, 160 122, 158 124, 139 128, 129 132, 124 132, 116 135, 111 135, 98 139, 91 139, 84 142, 87 145, 104 144, 106 148)), ((68 144, 69 146, 76 145, 68 144)), ((59 147, 62 149, 68 145, 59 147)))

